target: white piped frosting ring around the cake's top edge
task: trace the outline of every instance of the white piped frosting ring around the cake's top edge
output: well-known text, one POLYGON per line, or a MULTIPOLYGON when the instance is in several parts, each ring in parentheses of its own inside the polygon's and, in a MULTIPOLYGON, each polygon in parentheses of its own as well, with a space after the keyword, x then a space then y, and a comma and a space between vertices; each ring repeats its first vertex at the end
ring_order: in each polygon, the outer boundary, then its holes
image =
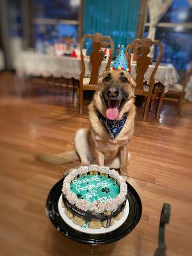
POLYGON ((81 166, 78 169, 72 170, 63 180, 63 195, 67 198, 68 202, 72 205, 76 205, 77 208, 82 211, 95 211, 95 212, 104 212, 104 211, 116 211, 116 209, 125 201, 127 195, 127 184, 124 178, 119 175, 115 170, 110 170, 106 166, 98 166, 96 164, 91 164, 89 166, 81 166), (118 185, 120 186, 120 193, 116 198, 109 199, 107 202, 100 202, 97 200, 93 203, 88 202, 85 199, 77 198, 76 193, 70 190, 70 183, 77 175, 83 175, 91 171, 97 171, 99 173, 106 173, 111 178, 115 179, 118 185))

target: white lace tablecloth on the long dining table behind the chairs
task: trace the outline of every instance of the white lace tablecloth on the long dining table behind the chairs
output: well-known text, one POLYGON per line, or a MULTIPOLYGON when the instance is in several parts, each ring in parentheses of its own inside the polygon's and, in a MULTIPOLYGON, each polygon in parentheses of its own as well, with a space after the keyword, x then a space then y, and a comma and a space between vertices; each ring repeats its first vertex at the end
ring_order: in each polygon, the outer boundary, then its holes
MULTIPOLYGON (((54 56, 40 54, 36 52, 23 51, 16 61, 16 71, 19 76, 43 76, 43 77, 65 77, 79 79, 81 74, 81 59, 66 56, 54 56)), ((106 61, 102 61, 99 68, 99 76, 102 75, 106 67, 106 61)), ((90 77, 91 65, 89 60, 85 60, 86 77, 90 77)), ((131 74, 136 77, 136 64, 131 64, 131 74)), ((148 81, 154 66, 150 65, 145 73, 145 80, 148 81)), ((177 83, 179 75, 172 64, 159 65, 155 80, 161 82, 165 87, 164 92, 168 92, 170 84, 177 83)))

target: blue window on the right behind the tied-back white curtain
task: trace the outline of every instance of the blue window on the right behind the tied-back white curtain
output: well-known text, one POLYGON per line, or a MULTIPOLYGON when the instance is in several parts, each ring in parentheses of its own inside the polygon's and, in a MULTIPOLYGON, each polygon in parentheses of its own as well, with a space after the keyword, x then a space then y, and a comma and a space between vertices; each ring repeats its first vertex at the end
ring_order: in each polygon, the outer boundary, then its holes
MULTIPOLYGON (((149 21, 149 19, 147 19, 149 21)), ((148 35, 149 23, 145 23, 143 36, 148 35)), ((164 63, 172 63, 177 70, 186 70, 192 60, 192 8, 188 0, 173 0, 157 24, 156 39, 163 44, 164 63)))

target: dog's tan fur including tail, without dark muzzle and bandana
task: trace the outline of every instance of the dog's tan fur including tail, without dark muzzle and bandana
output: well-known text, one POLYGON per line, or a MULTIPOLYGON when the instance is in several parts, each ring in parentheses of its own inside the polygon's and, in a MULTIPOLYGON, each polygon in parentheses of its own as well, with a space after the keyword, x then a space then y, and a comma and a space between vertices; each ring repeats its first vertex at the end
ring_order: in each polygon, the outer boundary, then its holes
POLYGON ((122 70, 110 70, 108 72, 105 72, 104 75, 100 77, 98 89, 95 92, 92 103, 88 107, 90 129, 80 129, 76 132, 75 147, 77 153, 73 152, 70 156, 69 153, 66 154, 64 152, 59 156, 54 156, 51 160, 51 157, 42 157, 41 160, 46 163, 63 164, 67 163, 67 160, 68 163, 72 160, 78 161, 77 159, 80 157, 81 163, 83 164, 96 163, 109 166, 110 168, 120 168, 121 173, 127 175, 127 166, 130 158, 129 141, 134 131, 134 116, 136 114, 136 108, 134 106, 135 82, 131 75, 124 72, 124 76, 127 77, 129 82, 122 83, 122 81, 120 81, 120 73, 122 73, 122 70), (104 78, 108 75, 108 72, 110 72, 113 77, 113 83, 118 84, 118 86, 123 86, 124 90, 129 93, 129 98, 120 110, 117 118, 120 120, 124 113, 128 112, 127 120, 114 140, 109 138, 106 128, 97 116, 97 110, 103 116, 106 116, 107 106, 102 97, 102 92, 106 90, 104 78), (63 159, 63 161, 61 159, 63 159))

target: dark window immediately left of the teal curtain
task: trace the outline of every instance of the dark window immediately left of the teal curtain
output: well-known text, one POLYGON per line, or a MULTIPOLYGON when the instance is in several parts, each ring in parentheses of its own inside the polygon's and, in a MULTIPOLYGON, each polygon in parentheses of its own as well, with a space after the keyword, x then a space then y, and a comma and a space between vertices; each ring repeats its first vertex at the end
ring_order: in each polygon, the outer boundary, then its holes
POLYGON ((80 0, 35 0, 34 41, 54 44, 62 37, 77 40, 80 0))

